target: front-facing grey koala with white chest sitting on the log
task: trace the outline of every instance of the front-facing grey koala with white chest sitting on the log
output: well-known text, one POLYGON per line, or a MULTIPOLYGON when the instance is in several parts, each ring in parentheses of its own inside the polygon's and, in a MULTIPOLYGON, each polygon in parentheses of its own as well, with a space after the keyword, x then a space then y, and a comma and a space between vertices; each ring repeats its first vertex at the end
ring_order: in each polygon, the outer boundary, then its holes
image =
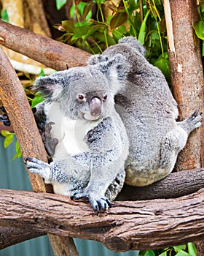
POLYGON ((109 208, 125 181, 129 144, 114 95, 128 70, 117 54, 36 80, 45 97, 36 106, 36 120, 51 123, 55 153, 50 164, 28 157, 28 170, 51 183, 57 194, 86 197, 94 211, 109 208))

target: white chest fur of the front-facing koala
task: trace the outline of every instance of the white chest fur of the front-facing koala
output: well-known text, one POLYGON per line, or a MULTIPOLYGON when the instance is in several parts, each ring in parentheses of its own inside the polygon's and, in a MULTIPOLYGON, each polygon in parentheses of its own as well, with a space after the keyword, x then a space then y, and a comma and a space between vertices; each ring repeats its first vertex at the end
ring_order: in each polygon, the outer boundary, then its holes
POLYGON ((71 120, 60 110, 58 102, 52 102, 47 105, 45 113, 47 115, 47 123, 55 123, 51 129, 52 138, 59 140, 53 159, 63 159, 68 154, 89 151, 85 142, 85 135, 99 121, 71 120))

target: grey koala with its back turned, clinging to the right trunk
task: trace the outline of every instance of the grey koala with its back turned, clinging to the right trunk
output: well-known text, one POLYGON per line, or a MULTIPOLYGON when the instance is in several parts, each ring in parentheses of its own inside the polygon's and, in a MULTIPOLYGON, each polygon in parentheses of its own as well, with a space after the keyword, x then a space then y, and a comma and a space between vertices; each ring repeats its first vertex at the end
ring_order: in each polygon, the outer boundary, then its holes
POLYGON ((193 129, 200 127, 202 114, 192 113, 176 121, 178 108, 164 75, 144 57, 144 47, 133 37, 120 39, 89 64, 98 64, 118 53, 130 66, 127 83, 115 97, 116 109, 125 124, 130 148, 125 163, 125 183, 146 186, 167 176, 193 129))

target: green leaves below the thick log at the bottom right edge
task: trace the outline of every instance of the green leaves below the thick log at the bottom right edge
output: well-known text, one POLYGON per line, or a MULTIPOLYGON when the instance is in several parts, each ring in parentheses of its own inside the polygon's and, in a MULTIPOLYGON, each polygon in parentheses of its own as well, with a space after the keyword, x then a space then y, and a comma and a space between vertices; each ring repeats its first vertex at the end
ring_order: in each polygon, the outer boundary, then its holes
POLYGON ((188 243, 186 245, 173 246, 165 249, 141 251, 139 256, 196 256, 195 245, 188 243))

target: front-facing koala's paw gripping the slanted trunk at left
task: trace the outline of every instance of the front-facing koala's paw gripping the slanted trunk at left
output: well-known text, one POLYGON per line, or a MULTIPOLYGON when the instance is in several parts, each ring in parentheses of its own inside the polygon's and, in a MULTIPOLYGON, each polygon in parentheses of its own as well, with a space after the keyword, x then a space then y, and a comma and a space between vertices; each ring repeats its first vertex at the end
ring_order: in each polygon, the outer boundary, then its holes
POLYGON ((26 157, 26 166, 31 173, 38 174, 44 178, 45 183, 50 183, 50 166, 36 158, 26 157))

